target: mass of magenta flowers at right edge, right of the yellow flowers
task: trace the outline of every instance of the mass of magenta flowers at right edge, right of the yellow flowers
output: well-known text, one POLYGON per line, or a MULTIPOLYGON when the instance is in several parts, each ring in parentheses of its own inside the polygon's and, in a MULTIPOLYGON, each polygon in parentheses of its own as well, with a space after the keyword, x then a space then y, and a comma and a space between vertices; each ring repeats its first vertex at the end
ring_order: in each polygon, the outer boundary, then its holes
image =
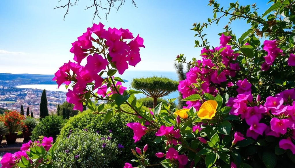
POLYGON ((253 101, 251 84, 244 79, 237 89, 238 95, 230 98, 227 106, 232 107, 230 114, 238 115, 245 119, 249 125, 246 136, 257 139, 260 135, 287 137, 281 139, 279 147, 290 149, 295 154, 295 145, 291 141, 295 139, 295 90, 288 89, 275 97, 269 96, 266 102, 260 100, 260 95, 253 101), (261 119, 271 117, 269 124, 261 122, 261 119))

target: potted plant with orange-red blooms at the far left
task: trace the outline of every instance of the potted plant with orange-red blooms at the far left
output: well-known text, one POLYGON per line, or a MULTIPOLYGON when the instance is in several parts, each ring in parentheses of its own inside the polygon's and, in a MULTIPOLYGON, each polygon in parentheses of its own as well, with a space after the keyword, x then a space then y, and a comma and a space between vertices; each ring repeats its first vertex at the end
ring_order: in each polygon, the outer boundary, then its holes
POLYGON ((5 112, 4 115, 4 125, 8 128, 8 134, 5 134, 6 142, 7 144, 13 144, 15 143, 17 139, 17 131, 25 127, 24 123, 24 116, 17 111, 13 112, 5 112))

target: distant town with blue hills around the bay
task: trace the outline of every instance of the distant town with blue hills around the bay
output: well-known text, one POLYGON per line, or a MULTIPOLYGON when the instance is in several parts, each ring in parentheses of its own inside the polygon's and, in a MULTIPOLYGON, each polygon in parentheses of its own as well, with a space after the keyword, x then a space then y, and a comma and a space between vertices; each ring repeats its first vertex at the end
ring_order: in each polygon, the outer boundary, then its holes
MULTIPOLYGON (((16 86, 24 84, 54 84, 54 81, 51 81, 52 78, 53 75, 0 73, 0 107, 19 112, 23 105, 25 112, 27 107, 29 107, 30 112, 33 111, 34 117, 38 118, 43 90, 17 88, 16 86)), ((66 92, 46 90, 49 113, 56 113, 56 106, 66 101, 65 94, 66 92)))

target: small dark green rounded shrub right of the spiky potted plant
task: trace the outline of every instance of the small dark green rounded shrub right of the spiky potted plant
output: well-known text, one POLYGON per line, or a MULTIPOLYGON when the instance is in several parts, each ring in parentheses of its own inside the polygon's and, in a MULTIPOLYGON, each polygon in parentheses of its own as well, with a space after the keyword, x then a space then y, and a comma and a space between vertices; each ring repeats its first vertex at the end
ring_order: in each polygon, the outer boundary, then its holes
POLYGON ((53 137, 53 140, 55 140, 65 122, 66 120, 63 120, 63 116, 46 116, 33 129, 31 139, 36 140, 39 139, 39 136, 43 135, 45 137, 53 137))

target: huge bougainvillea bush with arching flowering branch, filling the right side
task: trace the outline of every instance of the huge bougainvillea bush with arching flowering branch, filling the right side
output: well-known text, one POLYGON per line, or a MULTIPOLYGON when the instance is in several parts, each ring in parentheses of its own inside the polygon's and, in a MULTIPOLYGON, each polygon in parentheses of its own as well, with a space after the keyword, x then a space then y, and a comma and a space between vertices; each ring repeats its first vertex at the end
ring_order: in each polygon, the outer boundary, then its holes
MULTIPOLYGON (((143 39, 134 38, 128 29, 108 28, 99 23, 88 28, 70 50, 75 56, 55 73, 54 80, 68 88, 67 101, 82 110, 83 105, 105 115, 109 122, 114 113, 133 115, 135 122, 130 141, 136 144, 146 134, 155 134, 153 142, 165 150, 149 153, 148 147, 132 149, 132 167, 294 167, 294 3, 271 0, 263 14, 257 6, 230 3, 228 9, 211 0, 213 19, 193 24, 200 41, 201 59, 176 61, 191 65, 178 90, 187 101, 183 109, 171 109, 160 103, 153 112, 137 102, 135 90, 127 90, 115 74, 140 60, 143 39), (245 20, 249 30, 237 38, 230 26, 220 35, 220 46, 209 46, 205 28, 230 16, 230 21, 245 20), (106 76, 106 77, 102 77, 106 76), (133 112, 121 108, 127 104, 133 112), (163 158, 149 160, 150 155, 163 158)), ((124 84, 123 84, 124 85, 124 84)), ((130 153, 131 154, 131 153, 130 153)))

